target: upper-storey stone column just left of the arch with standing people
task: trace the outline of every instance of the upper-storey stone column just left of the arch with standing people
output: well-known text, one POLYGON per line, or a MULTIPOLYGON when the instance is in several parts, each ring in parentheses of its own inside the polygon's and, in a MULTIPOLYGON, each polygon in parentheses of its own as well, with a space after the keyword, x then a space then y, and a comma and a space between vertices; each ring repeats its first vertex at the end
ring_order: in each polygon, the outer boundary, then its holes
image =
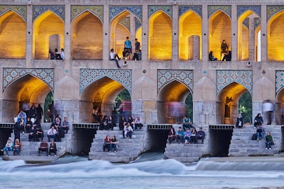
POLYGON ((104 23, 103 23, 103 33, 104 33, 104 47, 103 47, 103 60, 108 61, 110 59, 110 22, 109 22, 109 8, 108 4, 104 5, 104 23))

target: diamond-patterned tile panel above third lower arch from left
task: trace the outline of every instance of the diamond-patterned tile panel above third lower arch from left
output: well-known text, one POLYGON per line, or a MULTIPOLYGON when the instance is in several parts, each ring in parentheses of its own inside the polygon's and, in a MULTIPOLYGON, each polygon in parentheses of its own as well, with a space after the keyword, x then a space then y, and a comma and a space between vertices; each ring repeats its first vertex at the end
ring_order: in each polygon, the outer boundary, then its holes
POLYGON ((157 77, 158 92, 171 81, 180 81, 180 83, 185 84, 193 92, 193 71, 158 70, 157 77))

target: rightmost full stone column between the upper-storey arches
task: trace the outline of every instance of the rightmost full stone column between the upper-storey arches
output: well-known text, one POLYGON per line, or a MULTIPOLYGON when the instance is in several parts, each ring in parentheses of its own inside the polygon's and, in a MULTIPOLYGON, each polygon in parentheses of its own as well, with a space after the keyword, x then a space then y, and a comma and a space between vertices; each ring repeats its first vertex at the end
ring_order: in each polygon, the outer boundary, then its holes
POLYGON ((261 61, 268 60, 268 28, 266 5, 261 5, 261 61))

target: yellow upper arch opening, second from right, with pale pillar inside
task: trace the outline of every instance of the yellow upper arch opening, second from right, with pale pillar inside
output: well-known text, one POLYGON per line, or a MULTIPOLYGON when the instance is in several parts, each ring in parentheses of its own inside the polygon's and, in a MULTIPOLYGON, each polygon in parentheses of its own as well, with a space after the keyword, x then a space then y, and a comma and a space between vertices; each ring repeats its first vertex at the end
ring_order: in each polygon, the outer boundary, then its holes
POLYGON ((261 29, 260 18, 255 12, 248 10, 241 14, 238 19, 238 51, 237 60, 257 61, 257 47, 260 44, 257 37, 258 31, 261 29))

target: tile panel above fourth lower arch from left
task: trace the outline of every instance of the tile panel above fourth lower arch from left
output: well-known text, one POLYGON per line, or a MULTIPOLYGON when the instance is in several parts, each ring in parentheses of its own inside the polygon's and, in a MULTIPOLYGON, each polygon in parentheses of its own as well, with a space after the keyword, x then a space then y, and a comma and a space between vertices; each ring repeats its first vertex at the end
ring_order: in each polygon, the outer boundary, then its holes
POLYGON ((216 71, 216 94, 223 88, 236 82, 252 94, 252 71, 216 71))

